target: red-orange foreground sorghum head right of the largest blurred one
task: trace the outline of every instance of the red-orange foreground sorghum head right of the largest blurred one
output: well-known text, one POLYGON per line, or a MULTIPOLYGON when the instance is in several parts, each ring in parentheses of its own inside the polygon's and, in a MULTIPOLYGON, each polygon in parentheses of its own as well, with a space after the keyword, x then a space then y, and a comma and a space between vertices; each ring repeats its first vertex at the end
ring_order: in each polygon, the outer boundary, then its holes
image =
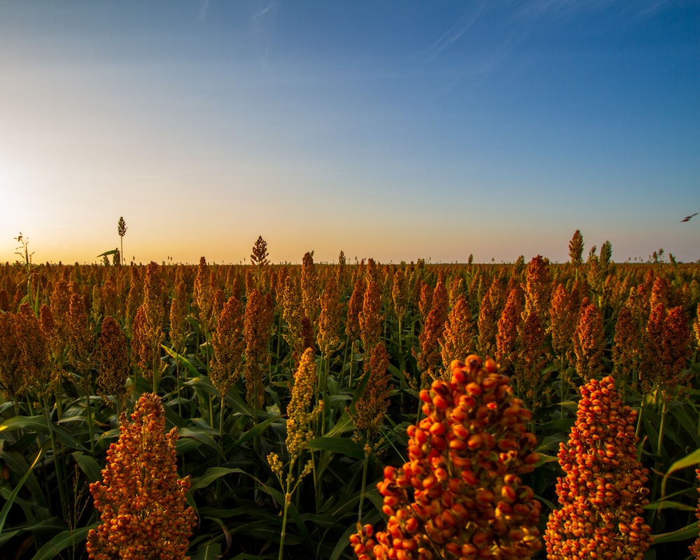
POLYGON ((561 509, 549 514, 549 560, 641 560, 651 543, 644 522, 647 469, 637 460, 637 412, 622 404, 612 377, 581 389, 576 423, 559 444, 561 509))

